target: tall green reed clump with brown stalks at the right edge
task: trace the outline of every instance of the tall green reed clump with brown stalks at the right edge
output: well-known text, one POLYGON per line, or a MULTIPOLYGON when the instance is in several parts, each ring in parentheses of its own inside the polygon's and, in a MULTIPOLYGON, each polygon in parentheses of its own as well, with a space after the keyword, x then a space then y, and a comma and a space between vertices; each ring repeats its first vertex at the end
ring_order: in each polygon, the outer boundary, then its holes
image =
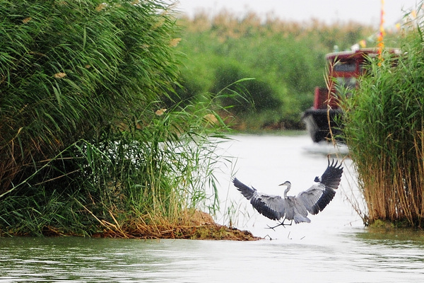
MULTIPOLYGON (((424 224, 424 49, 421 25, 401 55, 372 62, 344 107, 346 142, 367 203, 365 224, 424 224)), ((386 54, 388 55, 388 54, 386 54)))

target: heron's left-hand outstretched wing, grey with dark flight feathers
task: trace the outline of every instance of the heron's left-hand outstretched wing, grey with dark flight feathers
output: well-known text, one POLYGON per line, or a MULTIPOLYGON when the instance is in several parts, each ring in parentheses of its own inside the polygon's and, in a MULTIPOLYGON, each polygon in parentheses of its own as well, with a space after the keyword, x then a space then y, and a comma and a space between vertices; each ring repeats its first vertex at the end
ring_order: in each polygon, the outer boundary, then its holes
POLYGON ((237 178, 232 180, 237 190, 250 200, 257 211, 272 220, 281 219, 285 213, 285 200, 279 195, 265 195, 258 192, 254 187, 249 187, 237 178))

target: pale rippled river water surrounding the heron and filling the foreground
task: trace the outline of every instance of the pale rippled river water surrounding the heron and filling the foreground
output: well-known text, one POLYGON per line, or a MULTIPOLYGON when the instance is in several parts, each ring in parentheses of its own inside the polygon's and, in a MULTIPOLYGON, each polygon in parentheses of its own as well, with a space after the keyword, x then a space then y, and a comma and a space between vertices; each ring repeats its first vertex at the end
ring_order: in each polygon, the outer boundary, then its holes
POLYGON ((312 144, 304 133, 237 135, 222 144, 220 214, 216 220, 252 231, 261 241, 0 238, 0 282, 424 282, 424 233, 370 230, 347 149, 312 144), (327 154, 343 158, 334 200, 310 224, 266 229, 230 180, 262 192, 295 195, 322 175, 327 154), (354 200, 356 198, 356 200, 354 200), (228 213, 226 213, 228 212, 228 213))

